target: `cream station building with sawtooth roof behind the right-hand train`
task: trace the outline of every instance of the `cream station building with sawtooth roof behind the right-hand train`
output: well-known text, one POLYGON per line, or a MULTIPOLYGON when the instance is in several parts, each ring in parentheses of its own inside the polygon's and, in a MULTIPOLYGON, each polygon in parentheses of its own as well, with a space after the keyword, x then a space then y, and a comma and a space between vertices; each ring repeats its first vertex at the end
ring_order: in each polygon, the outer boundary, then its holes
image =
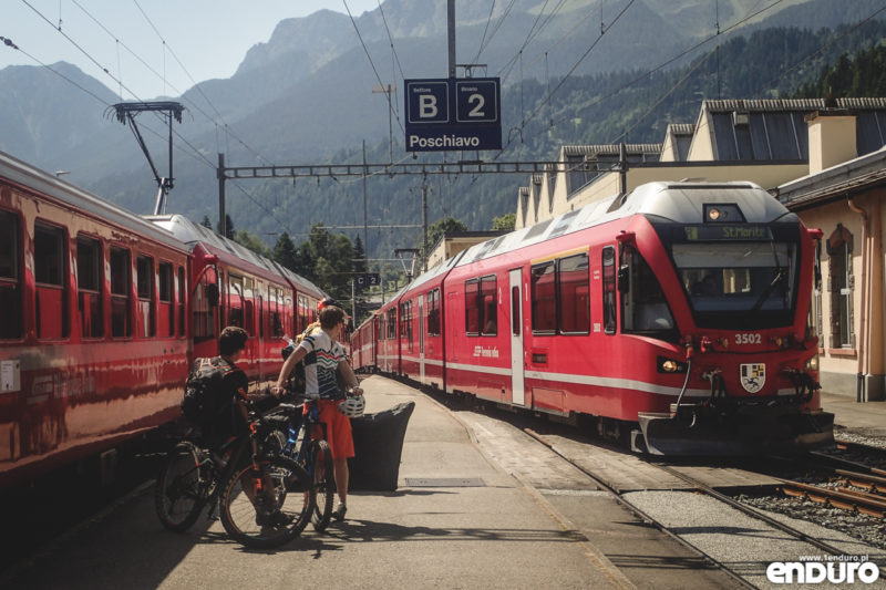
POLYGON ((820 228, 822 387, 886 400, 886 99, 703 101, 660 144, 563 146, 518 188, 515 228, 655 180, 750 180, 820 228))

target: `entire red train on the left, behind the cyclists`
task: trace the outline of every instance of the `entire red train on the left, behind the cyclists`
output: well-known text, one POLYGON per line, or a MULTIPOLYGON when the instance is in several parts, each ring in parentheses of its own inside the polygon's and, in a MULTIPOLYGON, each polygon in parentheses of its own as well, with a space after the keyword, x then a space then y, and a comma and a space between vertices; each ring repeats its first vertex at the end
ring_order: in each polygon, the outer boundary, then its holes
POLYGON ((276 379, 323 292, 182 216, 140 217, 0 152, 0 488, 179 415, 225 325, 276 379))

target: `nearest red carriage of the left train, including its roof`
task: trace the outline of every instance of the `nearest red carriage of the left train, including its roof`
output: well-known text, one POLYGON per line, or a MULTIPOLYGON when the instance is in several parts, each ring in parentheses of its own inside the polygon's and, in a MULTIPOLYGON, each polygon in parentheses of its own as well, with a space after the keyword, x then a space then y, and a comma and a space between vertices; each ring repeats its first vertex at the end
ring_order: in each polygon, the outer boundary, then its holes
POLYGON ((0 487, 177 416, 185 246, 0 154, 0 487))

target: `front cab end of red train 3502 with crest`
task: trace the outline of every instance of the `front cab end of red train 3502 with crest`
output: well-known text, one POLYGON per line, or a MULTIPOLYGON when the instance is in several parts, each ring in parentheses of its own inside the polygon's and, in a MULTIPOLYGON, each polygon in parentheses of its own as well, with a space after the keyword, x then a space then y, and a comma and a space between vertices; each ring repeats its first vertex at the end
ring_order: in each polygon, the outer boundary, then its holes
MULTIPOLYGON (((704 211, 739 215, 738 205, 718 203, 704 211)), ((638 413, 635 448, 754 455, 833 442, 807 322, 815 231, 793 215, 707 221, 637 217, 619 239, 620 328, 625 338, 653 339, 637 358, 647 370, 655 363, 660 384, 659 407, 638 413)))

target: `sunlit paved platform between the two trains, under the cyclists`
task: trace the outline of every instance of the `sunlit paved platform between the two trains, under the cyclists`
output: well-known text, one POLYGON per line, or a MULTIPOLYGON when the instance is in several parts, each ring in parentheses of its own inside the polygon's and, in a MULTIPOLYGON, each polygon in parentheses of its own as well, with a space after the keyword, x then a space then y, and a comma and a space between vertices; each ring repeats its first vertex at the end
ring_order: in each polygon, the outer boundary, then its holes
POLYGON ((399 487, 352 493, 346 519, 326 531, 309 525, 269 551, 244 549, 204 517, 172 534, 145 486, 0 576, 0 587, 736 587, 545 446, 514 447, 517 436, 494 421, 468 424, 393 380, 362 386, 367 412, 415 402, 399 487))

